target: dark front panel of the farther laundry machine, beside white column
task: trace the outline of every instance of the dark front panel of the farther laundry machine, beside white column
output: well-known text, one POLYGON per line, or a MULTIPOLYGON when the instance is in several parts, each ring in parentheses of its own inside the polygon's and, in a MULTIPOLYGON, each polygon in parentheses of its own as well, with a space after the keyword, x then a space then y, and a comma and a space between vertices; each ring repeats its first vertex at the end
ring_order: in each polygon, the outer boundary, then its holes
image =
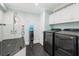
POLYGON ((44 49, 49 55, 53 55, 53 36, 51 32, 45 32, 44 49))

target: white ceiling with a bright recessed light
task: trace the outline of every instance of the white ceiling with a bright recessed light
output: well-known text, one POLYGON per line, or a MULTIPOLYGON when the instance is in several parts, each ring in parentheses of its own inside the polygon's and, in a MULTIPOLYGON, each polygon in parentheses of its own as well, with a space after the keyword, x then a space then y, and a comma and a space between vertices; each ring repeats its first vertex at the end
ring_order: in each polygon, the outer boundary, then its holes
POLYGON ((39 3, 38 5, 35 5, 35 3, 6 3, 5 5, 11 10, 40 14, 43 8, 52 13, 67 4, 69 3, 39 3))

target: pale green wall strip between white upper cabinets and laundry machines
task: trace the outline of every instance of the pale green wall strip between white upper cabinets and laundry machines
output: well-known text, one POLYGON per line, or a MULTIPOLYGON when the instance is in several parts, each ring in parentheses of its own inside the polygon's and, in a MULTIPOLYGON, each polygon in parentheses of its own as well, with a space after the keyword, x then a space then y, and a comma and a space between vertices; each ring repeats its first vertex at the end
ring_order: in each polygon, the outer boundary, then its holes
POLYGON ((55 24, 50 25, 51 28, 78 28, 79 29, 79 22, 69 22, 69 23, 62 23, 62 24, 55 24))

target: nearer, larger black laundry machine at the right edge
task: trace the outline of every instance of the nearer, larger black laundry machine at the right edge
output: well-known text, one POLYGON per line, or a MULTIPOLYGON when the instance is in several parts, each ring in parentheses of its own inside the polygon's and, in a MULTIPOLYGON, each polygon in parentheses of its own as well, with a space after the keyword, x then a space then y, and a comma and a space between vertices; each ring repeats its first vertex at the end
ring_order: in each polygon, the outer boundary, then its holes
POLYGON ((55 56, 79 55, 79 29, 65 29, 55 33, 55 56))

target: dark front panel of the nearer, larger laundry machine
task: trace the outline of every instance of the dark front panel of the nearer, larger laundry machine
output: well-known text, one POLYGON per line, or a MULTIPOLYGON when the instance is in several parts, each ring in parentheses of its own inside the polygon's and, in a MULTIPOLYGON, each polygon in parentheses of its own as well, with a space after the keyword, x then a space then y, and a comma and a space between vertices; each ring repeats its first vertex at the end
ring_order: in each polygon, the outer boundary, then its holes
POLYGON ((76 55, 76 37, 71 35, 55 34, 55 53, 56 52, 66 56, 76 55))

